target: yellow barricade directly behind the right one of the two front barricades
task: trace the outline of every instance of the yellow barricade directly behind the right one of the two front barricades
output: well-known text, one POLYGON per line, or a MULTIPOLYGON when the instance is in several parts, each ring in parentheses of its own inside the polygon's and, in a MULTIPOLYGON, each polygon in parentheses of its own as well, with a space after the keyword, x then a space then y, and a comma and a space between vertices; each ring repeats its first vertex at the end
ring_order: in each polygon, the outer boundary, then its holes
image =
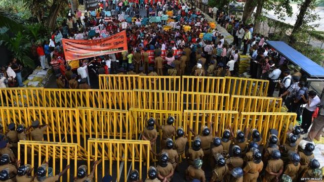
POLYGON ((129 139, 131 126, 126 110, 77 108, 80 134, 87 146, 88 138, 129 139))

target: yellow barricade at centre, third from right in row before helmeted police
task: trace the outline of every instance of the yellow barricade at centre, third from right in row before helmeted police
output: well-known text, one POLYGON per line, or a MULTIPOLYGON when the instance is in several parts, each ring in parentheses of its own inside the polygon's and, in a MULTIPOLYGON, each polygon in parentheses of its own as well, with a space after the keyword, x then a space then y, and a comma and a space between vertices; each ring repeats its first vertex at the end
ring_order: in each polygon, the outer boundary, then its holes
MULTIPOLYGON (((166 125, 169 116, 175 117, 174 126, 185 127, 182 121, 182 113, 180 111, 165 111, 165 110, 149 110, 149 109, 130 109, 130 120, 132 123, 132 134, 135 135, 135 140, 139 138, 140 133, 146 127, 146 122, 150 117, 153 117, 159 125, 166 125)), ((160 135, 161 130, 159 131, 160 135)))

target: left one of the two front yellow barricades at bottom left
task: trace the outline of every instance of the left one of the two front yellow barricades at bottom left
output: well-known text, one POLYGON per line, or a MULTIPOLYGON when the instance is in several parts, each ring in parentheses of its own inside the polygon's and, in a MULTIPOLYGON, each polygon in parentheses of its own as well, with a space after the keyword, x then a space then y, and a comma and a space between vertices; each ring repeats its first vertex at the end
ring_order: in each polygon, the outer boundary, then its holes
MULTIPOLYGON (((55 142, 34 142, 20 141, 18 142, 18 160, 23 157, 24 164, 30 162, 32 167, 38 167, 49 162, 49 167, 53 168, 53 176, 57 175, 57 171, 62 171, 66 165, 74 166, 73 176, 77 171, 77 144, 55 143, 55 142), (64 165, 63 165, 64 162, 64 165), (57 164, 59 165, 57 166, 57 164)), ((70 170, 60 177, 60 181, 71 181, 70 170), (63 179, 64 178, 64 179, 63 179)), ((33 175, 34 170, 32 170, 33 175)))

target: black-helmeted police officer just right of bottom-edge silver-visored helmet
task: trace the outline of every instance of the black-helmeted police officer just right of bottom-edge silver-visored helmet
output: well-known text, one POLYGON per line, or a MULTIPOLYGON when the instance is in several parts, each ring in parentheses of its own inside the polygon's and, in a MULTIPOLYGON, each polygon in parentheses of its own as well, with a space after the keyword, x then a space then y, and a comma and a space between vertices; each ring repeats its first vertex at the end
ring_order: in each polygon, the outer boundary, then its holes
POLYGON ((257 181, 257 178, 259 177, 259 173, 262 171, 263 168, 263 162, 261 159, 262 159, 261 152, 256 151, 253 153, 253 160, 249 161, 247 165, 243 168, 244 182, 257 181))

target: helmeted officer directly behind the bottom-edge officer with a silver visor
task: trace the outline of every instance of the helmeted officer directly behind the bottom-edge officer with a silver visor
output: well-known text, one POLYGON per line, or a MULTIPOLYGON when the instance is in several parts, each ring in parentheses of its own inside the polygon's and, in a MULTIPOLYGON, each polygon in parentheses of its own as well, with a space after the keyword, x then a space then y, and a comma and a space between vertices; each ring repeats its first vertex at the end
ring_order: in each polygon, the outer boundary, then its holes
MULTIPOLYGON (((232 156, 228 159, 226 159, 226 164, 228 166, 228 169, 231 171, 236 167, 242 167, 243 166, 243 159, 241 158, 241 149, 234 145, 232 147, 232 156)), ((228 173, 225 177, 226 181, 230 181, 231 174, 228 173)))

